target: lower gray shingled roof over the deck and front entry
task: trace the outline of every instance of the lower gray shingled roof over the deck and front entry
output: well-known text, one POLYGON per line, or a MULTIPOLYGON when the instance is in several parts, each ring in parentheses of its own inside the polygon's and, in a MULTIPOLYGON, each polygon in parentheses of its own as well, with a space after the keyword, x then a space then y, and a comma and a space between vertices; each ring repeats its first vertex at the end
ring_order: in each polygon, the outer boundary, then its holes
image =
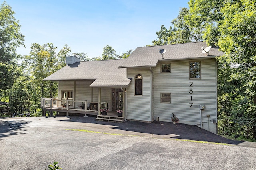
POLYGON ((70 64, 44 80, 95 80, 91 87, 128 87, 126 69, 118 69, 124 60, 82 61, 70 64))

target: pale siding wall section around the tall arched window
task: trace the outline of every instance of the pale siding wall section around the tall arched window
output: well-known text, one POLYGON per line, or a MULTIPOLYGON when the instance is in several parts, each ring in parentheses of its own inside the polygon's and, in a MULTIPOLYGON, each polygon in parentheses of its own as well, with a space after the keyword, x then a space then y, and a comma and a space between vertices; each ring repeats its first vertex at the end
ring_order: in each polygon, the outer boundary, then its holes
POLYGON ((151 121, 150 68, 127 68, 127 78, 132 78, 132 81, 126 93, 126 118, 128 120, 151 121), (134 95, 134 79, 137 74, 141 74, 143 78, 142 95, 134 95))

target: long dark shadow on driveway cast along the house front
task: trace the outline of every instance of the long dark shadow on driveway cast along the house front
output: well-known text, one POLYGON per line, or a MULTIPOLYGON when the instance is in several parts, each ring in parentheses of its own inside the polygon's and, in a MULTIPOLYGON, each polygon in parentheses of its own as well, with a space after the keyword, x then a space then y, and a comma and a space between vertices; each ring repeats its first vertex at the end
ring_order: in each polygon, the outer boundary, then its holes
POLYGON ((69 117, 69 120, 61 121, 72 121, 72 122, 84 122, 84 123, 95 123, 101 125, 112 125, 118 127, 111 127, 112 129, 119 129, 123 131, 132 131, 139 133, 155 134, 155 135, 171 135, 171 139, 187 139, 195 141, 207 141, 216 143, 227 143, 227 144, 239 144, 243 141, 235 141, 226 139, 220 135, 216 135, 198 126, 186 125, 181 123, 170 123, 170 122, 153 122, 144 123, 136 121, 124 121, 124 123, 112 123, 96 121, 95 117, 69 117))

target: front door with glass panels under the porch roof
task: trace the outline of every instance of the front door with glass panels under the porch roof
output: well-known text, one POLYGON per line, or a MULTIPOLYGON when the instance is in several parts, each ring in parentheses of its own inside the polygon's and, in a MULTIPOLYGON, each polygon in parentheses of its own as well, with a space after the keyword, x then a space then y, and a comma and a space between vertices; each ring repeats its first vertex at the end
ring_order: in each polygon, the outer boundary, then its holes
POLYGON ((116 111, 120 104, 123 104, 123 91, 121 88, 112 88, 111 111, 116 111))

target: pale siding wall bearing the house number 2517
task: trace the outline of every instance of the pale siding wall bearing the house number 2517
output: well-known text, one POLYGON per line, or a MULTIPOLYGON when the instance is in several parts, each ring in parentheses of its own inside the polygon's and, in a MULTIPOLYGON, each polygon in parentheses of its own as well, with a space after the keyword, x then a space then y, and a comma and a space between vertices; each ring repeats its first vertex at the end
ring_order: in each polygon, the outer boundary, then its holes
MULTIPOLYGON (((206 115, 210 115, 210 123, 217 121, 217 88, 216 88, 216 61, 202 59, 201 79, 189 79, 188 68, 190 61, 172 61, 172 73, 161 74, 161 62, 154 72, 154 117, 160 121, 170 121, 174 113, 180 122, 198 125, 200 123, 199 105, 204 104, 202 111, 203 124, 208 122, 206 115), (193 87, 190 87, 193 82, 193 87), (193 93, 190 94, 189 90, 193 93), (171 104, 161 103, 161 93, 171 93, 171 104), (192 101, 191 97, 192 96, 192 101), (190 102, 193 102, 190 107, 190 102)), ((216 130, 215 130, 216 131, 216 130)))

